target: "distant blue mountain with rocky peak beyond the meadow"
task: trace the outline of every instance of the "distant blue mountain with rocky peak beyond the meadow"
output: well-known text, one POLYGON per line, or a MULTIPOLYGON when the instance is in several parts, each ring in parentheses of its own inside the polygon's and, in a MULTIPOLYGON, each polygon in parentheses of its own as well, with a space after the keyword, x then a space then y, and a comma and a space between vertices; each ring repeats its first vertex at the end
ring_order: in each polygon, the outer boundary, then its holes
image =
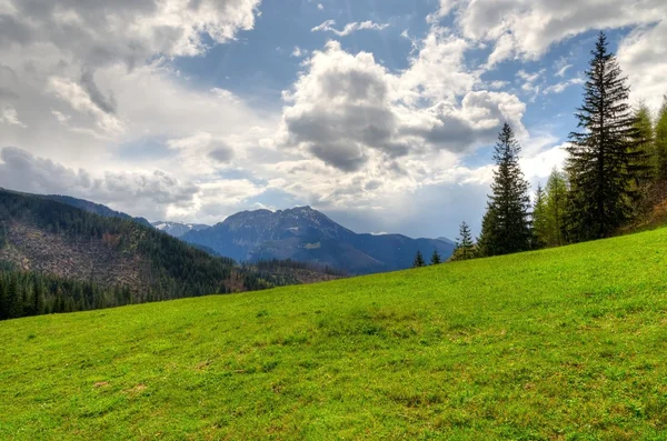
POLYGON ((454 244, 401 234, 357 234, 310 207, 243 211, 217 225, 190 231, 182 240, 239 261, 291 259, 344 270, 351 274, 410 268, 417 250, 444 258, 454 244))

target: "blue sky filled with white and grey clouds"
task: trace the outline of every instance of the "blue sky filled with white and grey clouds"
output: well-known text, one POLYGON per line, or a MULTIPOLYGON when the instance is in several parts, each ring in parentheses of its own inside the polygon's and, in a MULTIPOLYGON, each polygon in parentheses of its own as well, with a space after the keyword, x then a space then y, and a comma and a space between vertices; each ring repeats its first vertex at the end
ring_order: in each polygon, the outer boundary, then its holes
POLYGON ((0 187, 477 233, 504 122, 534 190, 563 166, 600 30, 657 111, 664 0, 0 0, 0 187))

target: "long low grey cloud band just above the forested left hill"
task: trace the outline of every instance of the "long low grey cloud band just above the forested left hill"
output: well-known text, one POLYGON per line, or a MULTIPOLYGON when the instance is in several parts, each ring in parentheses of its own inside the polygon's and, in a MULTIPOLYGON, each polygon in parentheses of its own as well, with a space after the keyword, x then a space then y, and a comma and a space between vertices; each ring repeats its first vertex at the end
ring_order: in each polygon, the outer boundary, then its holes
POLYGON ((263 191, 248 180, 197 183, 179 180, 159 169, 91 173, 17 148, 0 150, 0 187, 41 194, 70 194, 152 220, 179 217, 219 220, 263 191))

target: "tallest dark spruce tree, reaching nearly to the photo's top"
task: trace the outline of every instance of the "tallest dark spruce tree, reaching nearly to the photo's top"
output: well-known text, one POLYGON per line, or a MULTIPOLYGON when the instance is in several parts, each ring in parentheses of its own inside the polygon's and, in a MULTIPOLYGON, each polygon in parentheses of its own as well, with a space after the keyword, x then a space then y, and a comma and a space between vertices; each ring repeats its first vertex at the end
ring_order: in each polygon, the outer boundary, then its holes
POLYGON ((575 241, 609 237, 631 218, 637 190, 630 182, 644 171, 629 87, 604 32, 591 54, 584 104, 576 113, 583 130, 570 133, 567 148, 567 221, 575 241))

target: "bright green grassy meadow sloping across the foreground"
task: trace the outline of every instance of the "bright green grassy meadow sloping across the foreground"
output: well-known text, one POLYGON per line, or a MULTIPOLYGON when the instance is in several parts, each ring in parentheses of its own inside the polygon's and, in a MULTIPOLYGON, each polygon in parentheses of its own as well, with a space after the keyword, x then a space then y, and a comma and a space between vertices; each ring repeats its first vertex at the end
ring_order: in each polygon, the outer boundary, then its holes
POLYGON ((0 323, 0 439, 667 439, 667 229, 0 323))

